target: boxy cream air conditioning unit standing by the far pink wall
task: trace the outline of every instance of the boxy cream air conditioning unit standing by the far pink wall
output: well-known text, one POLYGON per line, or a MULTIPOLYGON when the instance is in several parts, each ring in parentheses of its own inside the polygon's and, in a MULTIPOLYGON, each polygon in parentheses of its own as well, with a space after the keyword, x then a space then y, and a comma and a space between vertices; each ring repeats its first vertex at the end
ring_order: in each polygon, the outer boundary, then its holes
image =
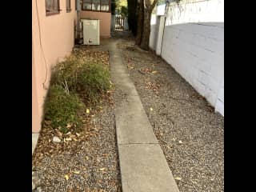
POLYGON ((99 20, 82 19, 83 44, 99 45, 99 20))

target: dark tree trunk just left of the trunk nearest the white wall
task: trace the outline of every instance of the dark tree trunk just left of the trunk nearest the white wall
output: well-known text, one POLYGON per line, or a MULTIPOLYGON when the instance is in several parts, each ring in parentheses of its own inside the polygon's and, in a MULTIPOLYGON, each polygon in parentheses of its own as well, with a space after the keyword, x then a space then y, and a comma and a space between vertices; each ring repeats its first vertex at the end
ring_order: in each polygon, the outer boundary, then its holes
POLYGON ((144 0, 140 0, 139 9, 138 9, 137 36, 135 39, 135 44, 138 46, 140 46, 142 42, 143 20, 144 20, 144 0))

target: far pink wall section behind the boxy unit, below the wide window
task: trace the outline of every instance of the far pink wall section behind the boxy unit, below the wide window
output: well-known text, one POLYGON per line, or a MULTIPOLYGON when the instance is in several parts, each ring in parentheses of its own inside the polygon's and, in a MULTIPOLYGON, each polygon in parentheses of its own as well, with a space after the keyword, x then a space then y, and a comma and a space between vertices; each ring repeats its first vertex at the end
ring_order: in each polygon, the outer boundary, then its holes
POLYGON ((111 13, 82 10, 81 18, 99 19, 101 37, 110 38, 111 13))

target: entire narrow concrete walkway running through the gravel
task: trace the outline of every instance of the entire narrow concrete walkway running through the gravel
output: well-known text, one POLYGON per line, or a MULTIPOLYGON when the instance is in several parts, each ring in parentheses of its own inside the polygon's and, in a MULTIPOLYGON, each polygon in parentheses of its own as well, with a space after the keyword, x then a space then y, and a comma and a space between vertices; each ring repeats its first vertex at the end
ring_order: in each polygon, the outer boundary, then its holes
POLYGON ((110 71, 115 97, 118 154, 123 192, 178 192, 134 83, 126 72, 118 41, 110 42, 110 71))

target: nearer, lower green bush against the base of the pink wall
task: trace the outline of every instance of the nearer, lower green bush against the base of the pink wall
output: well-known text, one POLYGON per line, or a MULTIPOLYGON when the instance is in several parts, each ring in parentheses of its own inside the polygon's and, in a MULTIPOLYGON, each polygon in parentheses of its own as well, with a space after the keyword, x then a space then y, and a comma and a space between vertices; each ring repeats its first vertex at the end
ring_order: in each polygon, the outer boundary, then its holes
POLYGON ((45 103, 45 119, 50 120, 54 129, 58 128, 65 134, 81 128, 82 119, 78 113, 84 109, 84 105, 77 94, 67 94, 62 86, 52 85, 45 103))

